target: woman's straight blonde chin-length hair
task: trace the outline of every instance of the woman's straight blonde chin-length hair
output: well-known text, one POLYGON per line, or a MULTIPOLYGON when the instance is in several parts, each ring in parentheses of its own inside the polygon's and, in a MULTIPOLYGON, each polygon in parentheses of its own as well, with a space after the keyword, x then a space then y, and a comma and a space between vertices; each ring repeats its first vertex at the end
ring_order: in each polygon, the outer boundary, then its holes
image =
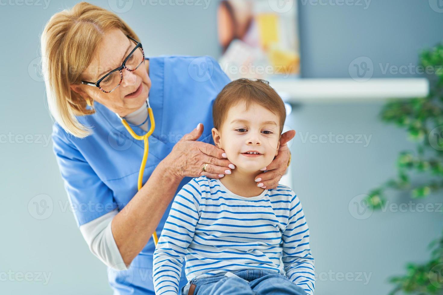
POLYGON ((40 38, 42 72, 49 111, 66 132, 84 138, 92 131, 75 116, 91 115, 85 98, 70 84, 80 84, 81 74, 92 61, 103 35, 120 29, 139 40, 132 29, 113 12, 80 2, 51 16, 40 38))

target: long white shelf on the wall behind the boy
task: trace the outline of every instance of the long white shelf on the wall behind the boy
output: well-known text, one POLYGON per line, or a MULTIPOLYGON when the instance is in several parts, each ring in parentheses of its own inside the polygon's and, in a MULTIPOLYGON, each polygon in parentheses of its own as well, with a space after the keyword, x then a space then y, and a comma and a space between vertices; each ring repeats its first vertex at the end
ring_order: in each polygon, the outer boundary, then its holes
POLYGON ((285 101, 293 103, 385 100, 424 97, 429 93, 426 78, 372 78, 364 82, 351 78, 299 78, 269 80, 269 84, 285 101))

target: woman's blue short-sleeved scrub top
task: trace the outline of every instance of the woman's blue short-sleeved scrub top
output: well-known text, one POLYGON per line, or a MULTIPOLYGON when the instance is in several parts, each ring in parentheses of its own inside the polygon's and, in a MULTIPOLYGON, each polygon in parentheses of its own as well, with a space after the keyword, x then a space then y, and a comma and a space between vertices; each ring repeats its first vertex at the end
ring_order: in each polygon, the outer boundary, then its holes
MULTIPOLYGON (((149 137, 143 183, 175 143, 198 123, 204 124, 198 141, 214 144, 212 104, 218 92, 230 82, 212 57, 160 56, 147 59, 152 81, 149 103, 154 113, 155 130, 149 137)), ((116 208, 121 210, 132 199, 137 192, 143 157, 143 141, 132 138, 117 115, 107 107, 94 102, 94 108, 95 114, 77 117, 80 123, 92 128, 92 135, 76 138, 57 123, 54 123, 52 133, 54 153, 78 226, 116 208)), ((140 127, 132 126, 132 129, 136 134, 145 134, 140 127)), ((185 177, 175 193, 191 179, 185 177)), ((157 227, 158 237, 171 203, 157 227)), ((109 284, 114 294, 154 294, 154 250, 151 237, 128 270, 116 271, 108 267, 109 284)), ((179 287, 186 284, 183 264, 179 287)))

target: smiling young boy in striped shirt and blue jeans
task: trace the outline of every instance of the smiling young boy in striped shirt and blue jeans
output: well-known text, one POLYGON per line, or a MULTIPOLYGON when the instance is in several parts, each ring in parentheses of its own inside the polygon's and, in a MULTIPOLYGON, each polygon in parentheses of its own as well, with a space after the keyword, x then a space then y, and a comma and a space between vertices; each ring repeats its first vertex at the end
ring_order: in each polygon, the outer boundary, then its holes
POLYGON ((314 258, 291 188, 257 187, 278 154, 286 111, 264 80, 227 84, 213 105, 215 145, 236 169, 193 178, 175 196, 154 252, 155 294, 314 294, 314 258), (179 290, 185 258, 186 286, 179 290))

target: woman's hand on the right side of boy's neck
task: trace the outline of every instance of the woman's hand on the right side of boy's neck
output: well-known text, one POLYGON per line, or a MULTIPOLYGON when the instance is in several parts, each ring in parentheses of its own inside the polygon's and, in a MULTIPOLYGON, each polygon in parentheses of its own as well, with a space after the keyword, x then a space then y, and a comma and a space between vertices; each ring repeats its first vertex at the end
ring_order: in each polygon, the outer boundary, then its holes
POLYGON ((286 169, 288 168, 290 152, 286 143, 294 138, 294 136, 295 130, 289 130, 281 134, 280 148, 278 149, 277 156, 272 160, 271 164, 260 169, 268 171, 257 175, 255 178, 255 181, 258 182, 258 187, 272 189, 278 186, 281 177, 286 173, 286 169))

